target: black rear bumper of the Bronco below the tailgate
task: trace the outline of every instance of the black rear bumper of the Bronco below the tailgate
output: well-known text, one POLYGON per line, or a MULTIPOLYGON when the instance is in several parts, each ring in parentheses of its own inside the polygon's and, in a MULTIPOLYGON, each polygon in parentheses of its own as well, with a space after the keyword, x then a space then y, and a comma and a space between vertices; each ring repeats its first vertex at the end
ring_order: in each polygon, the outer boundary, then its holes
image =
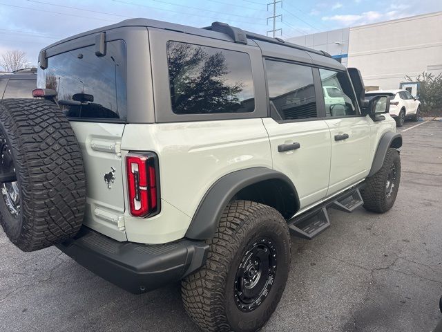
POLYGON ((119 242, 83 226, 57 248, 96 275, 134 294, 177 282, 204 265, 209 245, 182 239, 146 245, 119 242))

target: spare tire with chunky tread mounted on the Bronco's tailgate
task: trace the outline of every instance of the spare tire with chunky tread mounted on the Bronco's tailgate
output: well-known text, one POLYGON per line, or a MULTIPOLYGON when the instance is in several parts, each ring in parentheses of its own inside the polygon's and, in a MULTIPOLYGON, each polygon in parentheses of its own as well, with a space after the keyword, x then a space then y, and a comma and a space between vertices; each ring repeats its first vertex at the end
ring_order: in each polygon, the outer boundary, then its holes
POLYGON ((69 121, 48 100, 0 100, 0 223, 23 251, 73 237, 86 182, 69 121))

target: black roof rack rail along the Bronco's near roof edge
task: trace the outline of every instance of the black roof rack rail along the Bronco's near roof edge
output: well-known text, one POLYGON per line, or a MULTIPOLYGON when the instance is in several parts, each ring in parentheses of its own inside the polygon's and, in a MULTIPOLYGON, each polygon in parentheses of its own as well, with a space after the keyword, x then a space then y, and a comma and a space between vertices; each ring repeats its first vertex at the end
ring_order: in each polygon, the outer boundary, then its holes
POLYGON ((250 38, 250 39, 260 40, 262 42, 268 42, 271 44, 278 44, 278 45, 288 46, 291 48, 297 48, 298 50, 305 50, 307 52, 316 53, 318 55, 324 55, 326 57, 332 57, 332 55, 329 55, 329 53, 323 50, 314 50, 313 48, 308 48, 305 46, 289 43, 286 42, 284 39, 278 37, 272 38, 264 35, 259 35, 258 33, 251 33, 249 31, 245 31, 240 28, 229 26, 229 24, 227 23, 213 22, 211 26, 206 26, 203 29, 218 31, 218 33, 226 33, 227 35, 229 35, 229 37, 231 37, 231 39, 233 39, 233 42, 240 44, 247 44, 247 38, 250 38))

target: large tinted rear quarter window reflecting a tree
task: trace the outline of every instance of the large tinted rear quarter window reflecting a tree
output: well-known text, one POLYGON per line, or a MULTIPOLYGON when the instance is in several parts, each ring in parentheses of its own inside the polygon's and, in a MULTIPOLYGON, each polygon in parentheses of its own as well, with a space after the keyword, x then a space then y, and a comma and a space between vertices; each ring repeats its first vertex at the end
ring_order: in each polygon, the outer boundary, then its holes
POLYGON ((172 111, 176 114, 253 112, 247 53, 167 42, 172 111))

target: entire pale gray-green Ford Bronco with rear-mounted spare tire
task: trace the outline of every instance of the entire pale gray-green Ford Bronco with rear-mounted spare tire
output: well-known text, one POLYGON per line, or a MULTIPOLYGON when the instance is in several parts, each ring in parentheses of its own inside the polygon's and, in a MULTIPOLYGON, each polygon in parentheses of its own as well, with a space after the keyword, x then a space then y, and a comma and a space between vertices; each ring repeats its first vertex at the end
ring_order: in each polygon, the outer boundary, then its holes
POLYGON ((129 19, 39 54, 32 99, 0 102, 1 225, 132 293, 182 280, 204 331, 256 331, 291 234, 327 208, 392 208, 389 97, 327 53, 219 22, 129 19), (325 98, 324 87, 339 91, 325 98))

